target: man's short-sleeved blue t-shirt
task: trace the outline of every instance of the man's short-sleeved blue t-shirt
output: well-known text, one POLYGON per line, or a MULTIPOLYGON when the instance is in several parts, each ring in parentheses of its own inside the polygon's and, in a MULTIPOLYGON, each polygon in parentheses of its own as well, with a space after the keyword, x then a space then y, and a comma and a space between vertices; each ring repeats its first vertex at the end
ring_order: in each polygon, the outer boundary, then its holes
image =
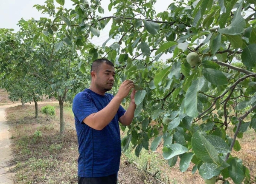
POLYGON ((120 105, 115 117, 102 130, 95 130, 83 120, 92 113, 105 108, 113 95, 99 95, 90 89, 78 93, 73 100, 76 133, 79 144, 78 176, 84 178, 102 177, 119 170, 121 138, 118 119, 125 110, 120 105))

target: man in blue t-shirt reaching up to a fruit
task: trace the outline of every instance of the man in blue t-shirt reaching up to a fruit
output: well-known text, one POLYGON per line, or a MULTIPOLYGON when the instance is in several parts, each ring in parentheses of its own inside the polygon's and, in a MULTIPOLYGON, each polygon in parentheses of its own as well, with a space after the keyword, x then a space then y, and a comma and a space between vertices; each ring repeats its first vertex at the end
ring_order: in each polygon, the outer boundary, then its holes
POLYGON ((113 87, 115 69, 108 59, 91 65, 90 88, 73 100, 76 133, 79 143, 78 184, 116 184, 121 156, 119 123, 130 125, 136 108, 135 90, 125 111, 120 105, 134 88, 125 80, 116 96, 106 93, 113 87))

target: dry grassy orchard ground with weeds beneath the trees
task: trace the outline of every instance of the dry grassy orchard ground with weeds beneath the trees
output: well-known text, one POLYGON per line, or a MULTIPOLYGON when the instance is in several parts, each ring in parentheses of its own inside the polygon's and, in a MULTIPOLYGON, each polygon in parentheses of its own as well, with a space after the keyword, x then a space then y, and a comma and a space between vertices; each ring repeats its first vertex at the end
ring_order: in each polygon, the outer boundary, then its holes
MULTIPOLYGON (((0 105, 12 103, 6 96, 8 95, 4 91, 0 91, 0 105)), ((47 104, 40 104, 39 110, 45 105, 47 104)), ((6 110, 14 157, 9 165, 12 166, 10 171, 15 173, 13 180, 16 184, 77 183, 78 150, 71 104, 64 106, 66 130, 63 136, 59 135, 58 103, 50 105, 55 106, 56 115, 47 116, 40 111, 38 119, 34 118, 33 105, 18 105, 6 110)), ((229 133, 233 136, 231 129, 229 133)), ((126 132, 121 131, 122 137, 125 134, 126 132)), ((255 138, 254 130, 248 130, 248 133, 239 139, 241 150, 232 151, 233 156, 243 159, 252 178, 256 177, 255 138)), ((165 184, 204 184, 198 171, 192 174, 193 164, 190 164, 186 172, 181 173, 179 158, 171 168, 162 154, 162 144, 155 152, 143 150, 139 158, 130 146, 122 152, 119 184, 160 184, 160 181, 165 184)))

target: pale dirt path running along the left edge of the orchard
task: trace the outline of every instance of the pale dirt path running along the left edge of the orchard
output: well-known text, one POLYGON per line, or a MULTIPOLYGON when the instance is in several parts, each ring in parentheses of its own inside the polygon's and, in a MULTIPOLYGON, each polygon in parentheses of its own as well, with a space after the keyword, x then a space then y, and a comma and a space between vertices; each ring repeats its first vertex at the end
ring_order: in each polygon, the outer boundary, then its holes
MULTIPOLYGON (((38 102, 38 104, 44 103, 58 103, 58 102, 38 102)), ((8 161, 12 159, 12 152, 9 147, 11 144, 9 125, 6 124, 6 108, 15 107, 20 103, 12 105, 0 106, 0 184, 13 184, 12 178, 15 173, 8 173, 10 167, 8 167, 8 161)), ((31 105, 34 105, 33 103, 31 105)))

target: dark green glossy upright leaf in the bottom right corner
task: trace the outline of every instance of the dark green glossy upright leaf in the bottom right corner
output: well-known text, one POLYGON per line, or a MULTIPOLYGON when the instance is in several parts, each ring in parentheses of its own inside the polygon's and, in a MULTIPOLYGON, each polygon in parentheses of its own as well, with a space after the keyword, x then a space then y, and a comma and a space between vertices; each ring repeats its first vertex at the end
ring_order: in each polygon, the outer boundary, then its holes
POLYGON ((244 180, 244 170, 242 160, 238 158, 232 158, 228 161, 230 166, 228 167, 228 173, 230 178, 235 182, 235 184, 240 184, 244 180))

